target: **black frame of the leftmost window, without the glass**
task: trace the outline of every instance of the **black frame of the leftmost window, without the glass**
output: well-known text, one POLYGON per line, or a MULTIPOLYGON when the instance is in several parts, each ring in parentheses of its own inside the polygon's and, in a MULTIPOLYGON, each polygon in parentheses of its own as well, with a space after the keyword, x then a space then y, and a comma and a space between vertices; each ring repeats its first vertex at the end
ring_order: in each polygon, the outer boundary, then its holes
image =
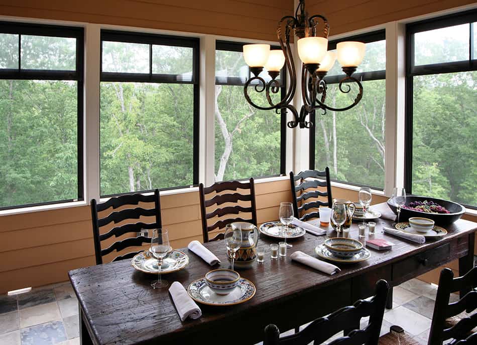
POLYGON ((0 34, 19 35, 18 68, 0 69, 2 80, 71 80, 77 82, 77 198, 0 207, 0 210, 13 210, 26 207, 55 205, 84 200, 84 29, 59 25, 30 24, 20 22, 0 22, 0 34), (75 70, 22 69, 22 35, 49 36, 76 39, 75 70))

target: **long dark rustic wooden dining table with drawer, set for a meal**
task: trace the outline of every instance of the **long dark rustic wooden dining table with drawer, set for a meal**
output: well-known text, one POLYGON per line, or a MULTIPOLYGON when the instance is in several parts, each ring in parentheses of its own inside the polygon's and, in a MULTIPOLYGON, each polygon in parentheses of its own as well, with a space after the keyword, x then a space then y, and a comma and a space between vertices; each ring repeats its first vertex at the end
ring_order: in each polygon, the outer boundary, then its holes
MULTIPOLYGON (((384 210, 387 205, 371 208, 384 210)), ((349 230, 353 239, 359 238, 358 223, 353 221, 349 230)), ((445 226, 445 236, 423 244, 383 233, 383 227, 392 227, 392 220, 379 218, 376 223, 376 234, 367 234, 364 240, 368 236, 384 238, 394 243, 392 249, 368 248, 372 254, 368 260, 336 264, 341 270, 333 275, 290 258, 298 250, 317 257, 315 247, 336 234, 331 227, 326 235, 306 233, 289 240, 293 247, 288 249, 287 256, 275 260, 270 258, 270 244, 278 240, 260 234, 259 245, 266 248, 264 262, 255 261, 251 268, 239 271, 255 284, 255 296, 231 306, 199 304, 202 316, 194 320, 181 321, 168 289, 153 289, 150 283, 157 276, 136 270, 131 260, 72 270, 69 277, 79 303, 80 342, 83 345, 254 344, 262 341, 264 329, 270 323, 286 331, 372 296, 379 279, 396 286, 455 259, 459 260, 460 275, 473 267, 477 223, 459 219, 445 226)), ((170 283, 178 281, 187 289, 208 271, 230 266, 223 240, 204 246, 221 263, 210 266, 187 248, 179 249, 189 256, 189 264, 164 275, 164 279, 170 283)), ((392 293, 389 298, 392 300, 392 293)))

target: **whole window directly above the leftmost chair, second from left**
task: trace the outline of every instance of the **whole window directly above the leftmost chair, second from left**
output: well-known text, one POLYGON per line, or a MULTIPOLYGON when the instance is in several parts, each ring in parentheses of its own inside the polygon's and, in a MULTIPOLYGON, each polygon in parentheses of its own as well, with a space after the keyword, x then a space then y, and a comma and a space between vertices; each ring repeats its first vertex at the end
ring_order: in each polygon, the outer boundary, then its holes
POLYGON ((101 31, 101 196, 198 184, 198 47, 101 31))

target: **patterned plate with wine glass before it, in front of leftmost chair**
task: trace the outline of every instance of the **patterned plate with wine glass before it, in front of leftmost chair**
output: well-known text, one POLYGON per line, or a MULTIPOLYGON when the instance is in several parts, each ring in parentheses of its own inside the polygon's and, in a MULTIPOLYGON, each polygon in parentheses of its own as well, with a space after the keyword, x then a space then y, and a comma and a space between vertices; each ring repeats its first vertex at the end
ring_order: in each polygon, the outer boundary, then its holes
MULTIPOLYGON (((151 252, 145 250, 137 254, 131 260, 133 267, 144 273, 158 272, 157 259, 152 256, 151 252)), ((183 269, 189 263, 189 257, 180 250, 171 250, 169 254, 162 260, 161 274, 172 273, 183 269)))

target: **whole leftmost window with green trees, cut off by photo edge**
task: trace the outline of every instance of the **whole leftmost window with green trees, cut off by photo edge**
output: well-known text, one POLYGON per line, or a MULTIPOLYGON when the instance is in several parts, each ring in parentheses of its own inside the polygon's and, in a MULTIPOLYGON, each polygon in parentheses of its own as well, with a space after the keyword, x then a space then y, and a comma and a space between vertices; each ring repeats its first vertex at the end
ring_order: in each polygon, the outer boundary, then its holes
POLYGON ((0 209, 83 200, 83 29, 0 23, 0 209))

